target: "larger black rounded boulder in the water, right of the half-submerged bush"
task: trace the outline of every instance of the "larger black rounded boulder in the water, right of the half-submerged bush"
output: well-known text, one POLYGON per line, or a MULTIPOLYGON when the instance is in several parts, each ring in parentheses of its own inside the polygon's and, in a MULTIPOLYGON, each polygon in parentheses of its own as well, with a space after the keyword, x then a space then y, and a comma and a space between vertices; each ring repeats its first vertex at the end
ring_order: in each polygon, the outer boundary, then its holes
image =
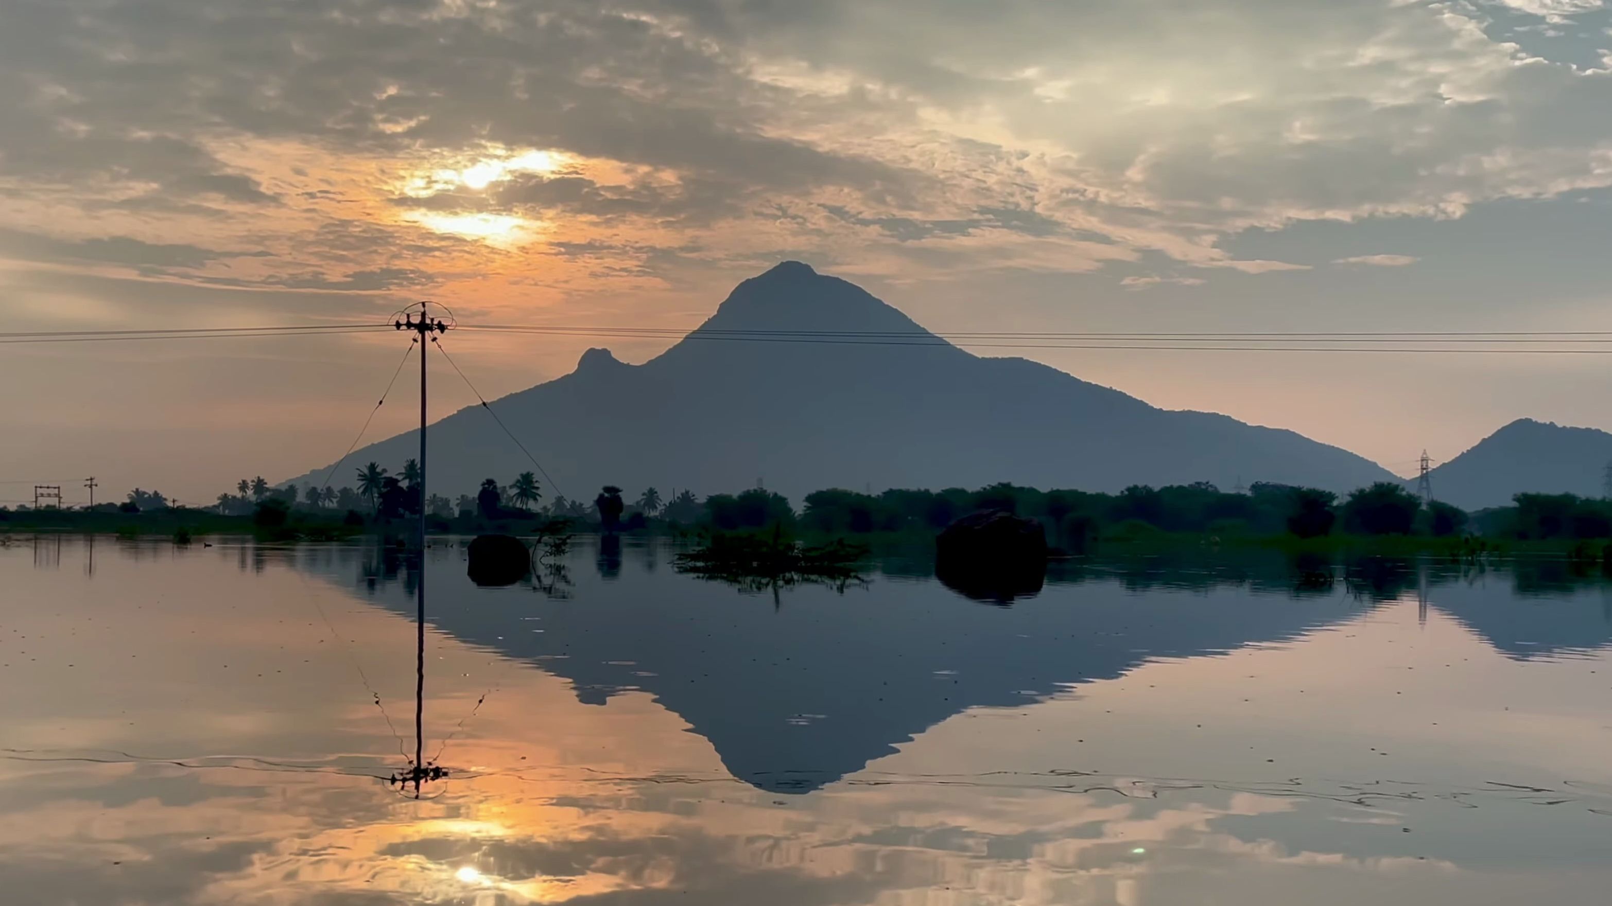
POLYGON ((970 513, 935 538, 935 577, 977 601, 1009 603, 1041 590, 1046 553, 1041 522, 1001 509, 970 513))

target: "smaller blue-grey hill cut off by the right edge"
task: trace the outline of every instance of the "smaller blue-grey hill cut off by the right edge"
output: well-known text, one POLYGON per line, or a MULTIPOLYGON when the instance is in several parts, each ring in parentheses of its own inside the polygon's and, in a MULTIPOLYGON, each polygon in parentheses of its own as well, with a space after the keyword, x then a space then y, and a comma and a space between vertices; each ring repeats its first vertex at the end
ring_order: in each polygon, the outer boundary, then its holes
MULTIPOLYGON (((1512 495, 1601 497, 1612 434, 1517 419, 1430 472, 1433 497, 1464 509, 1507 506, 1512 495)), ((1412 479, 1410 487, 1415 487, 1412 479)))

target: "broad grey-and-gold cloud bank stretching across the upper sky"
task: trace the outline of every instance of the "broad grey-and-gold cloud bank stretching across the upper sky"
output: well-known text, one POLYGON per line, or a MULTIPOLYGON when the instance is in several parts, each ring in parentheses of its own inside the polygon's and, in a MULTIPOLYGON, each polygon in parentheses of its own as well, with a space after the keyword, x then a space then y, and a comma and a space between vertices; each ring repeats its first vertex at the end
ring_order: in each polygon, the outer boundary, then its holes
POLYGON ((5 213, 16 229, 106 211, 193 229, 198 248, 234 231, 279 272, 443 276, 503 255, 405 216, 432 211, 617 250, 553 284, 638 279, 646 250, 674 247, 888 279, 946 276, 958 255, 1262 274, 1304 266, 1238 261, 1230 237, 1612 185, 1612 73, 1489 37, 1493 8, 19 0, 0 11, 0 193, 27 198, 5 213), (561 163, 500 164, 532 152, 561 163), (477 166, 498 179, 406 189, 477 166), (329 260, 319 231, 353 221, 372 239, 329 260))

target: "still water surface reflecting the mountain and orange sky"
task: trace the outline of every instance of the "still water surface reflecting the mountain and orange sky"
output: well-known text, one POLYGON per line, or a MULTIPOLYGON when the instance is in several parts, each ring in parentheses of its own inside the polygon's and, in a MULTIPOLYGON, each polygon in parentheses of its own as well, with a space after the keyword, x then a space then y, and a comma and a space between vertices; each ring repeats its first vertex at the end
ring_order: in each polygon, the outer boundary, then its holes
POLYGON ((0 900, 1512 904, 1612 888, 1612 587, 1083 563, 980 601, 596 543, 0 547, 0 900))

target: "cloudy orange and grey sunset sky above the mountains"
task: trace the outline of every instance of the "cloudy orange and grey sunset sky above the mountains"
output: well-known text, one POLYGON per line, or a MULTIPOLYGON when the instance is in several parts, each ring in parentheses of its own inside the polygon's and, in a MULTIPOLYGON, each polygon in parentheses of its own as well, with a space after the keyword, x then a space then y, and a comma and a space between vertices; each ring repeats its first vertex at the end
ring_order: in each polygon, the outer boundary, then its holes
MULTIPOLYGON (((803 260, 940 332, 1612 329, 1609 48, 1604 0, 8 0, 0 311, 693 327, 803 260)), ((488 398, 667 345, 445 342, 488 398)), ((330 463, 403 345, 10 345, 0 500, 330 463)), ((1401 474, 1612 429, 1604 356, 1022 351, 1401 474)))

